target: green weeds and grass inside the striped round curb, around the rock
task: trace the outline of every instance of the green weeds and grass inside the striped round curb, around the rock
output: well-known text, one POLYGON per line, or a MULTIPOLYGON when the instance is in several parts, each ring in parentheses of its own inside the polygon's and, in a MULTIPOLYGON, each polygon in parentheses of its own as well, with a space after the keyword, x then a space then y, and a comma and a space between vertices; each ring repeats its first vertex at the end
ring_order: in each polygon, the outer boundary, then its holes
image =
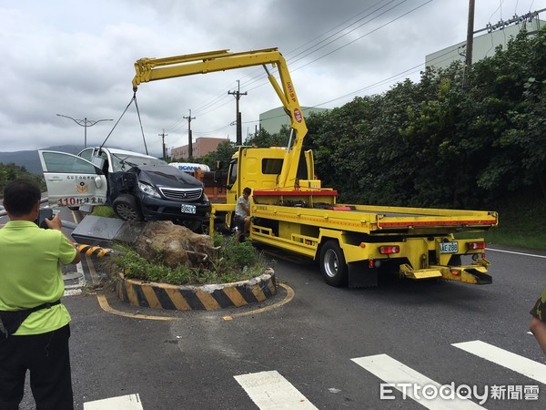
POLYGON ((149 261, 135 250, 116 245, 120 253, 112 256, 115 271, 126 272, 127 279, 161 282, 174 285, 202 285, 246 281, 263 274, 266 263, 249 241, 238 243, 233 237, 214 235, 215 246, 220 246, 211 263, 212 268, 179 265, 169 268, 159 259, 149 261))

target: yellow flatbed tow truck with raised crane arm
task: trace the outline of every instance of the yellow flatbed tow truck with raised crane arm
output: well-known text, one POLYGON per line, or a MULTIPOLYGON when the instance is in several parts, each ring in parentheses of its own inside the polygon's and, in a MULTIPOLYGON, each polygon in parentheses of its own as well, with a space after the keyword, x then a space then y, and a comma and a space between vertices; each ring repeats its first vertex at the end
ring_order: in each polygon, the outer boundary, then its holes
POLYGON ((375 286, 383 270, 415 280, 492 282, 481 232, 497 226, 497 212, 340 204, 336 190, 321 186, 312 152, 302 153, 308 128, 277 48, 140 59, 133 89, 147 81, 253 66, 264 67, 291 120, 288 148, 238 148, 226 202, 212 207, 211 231, 218 218, 229 224, 242 190, 250 187, 249 239, 319 261, 330 285, 375 286), (268 66, 277 68, 279 81, 268 66), (460 239, 460 232, 470 239, 460 239))

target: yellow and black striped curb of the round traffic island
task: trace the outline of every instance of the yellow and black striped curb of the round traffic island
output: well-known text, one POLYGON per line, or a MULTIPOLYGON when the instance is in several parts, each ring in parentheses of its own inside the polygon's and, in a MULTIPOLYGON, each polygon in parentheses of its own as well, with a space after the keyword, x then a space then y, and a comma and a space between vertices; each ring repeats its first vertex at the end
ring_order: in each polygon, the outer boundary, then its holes
POLYGON ((143 282, 126 279, 118 273, 117 297, 135 306, 190 311, 240 307, 249 303, 264 302, 277 294, 275 272, 266 272, 248 281, 207 284, 202 286, 177 286, 166 283, 143 282))

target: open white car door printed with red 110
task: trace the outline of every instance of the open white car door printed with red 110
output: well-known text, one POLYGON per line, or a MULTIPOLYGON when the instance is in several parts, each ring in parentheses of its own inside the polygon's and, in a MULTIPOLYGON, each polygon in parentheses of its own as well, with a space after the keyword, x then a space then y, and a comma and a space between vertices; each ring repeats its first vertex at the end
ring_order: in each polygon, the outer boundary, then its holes
POLYGON ((39 150, 49 204, 61 207, 106 204, 106 176, 86 159, 39 150))

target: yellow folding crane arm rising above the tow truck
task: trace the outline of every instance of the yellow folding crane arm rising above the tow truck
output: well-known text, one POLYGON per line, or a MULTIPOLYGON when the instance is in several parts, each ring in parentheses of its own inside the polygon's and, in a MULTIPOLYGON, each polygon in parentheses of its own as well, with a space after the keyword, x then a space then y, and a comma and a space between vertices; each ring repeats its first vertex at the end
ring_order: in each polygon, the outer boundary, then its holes
POLYGON ((290 79, 287 62, 278 48, 266 48, 240 53, 230 53, 227 49, 207 53, 171 56, 165 58, 141 58, 135 63, 136 76, 133 78, 133 90, 139 84, 159 79, 207 74, 235 68, 263 66, 268 74, 271 86, 290 118, 290 128, 294 133, 294 142, 288 147, 283 167, 278 178, 278 189, 293 188, 296 185, 299 155, 303 138, 308 128, 301 113, 296 91, 290 79), (266 65, 277 67, 280 86, 277 79, 269 73, 266 65))

